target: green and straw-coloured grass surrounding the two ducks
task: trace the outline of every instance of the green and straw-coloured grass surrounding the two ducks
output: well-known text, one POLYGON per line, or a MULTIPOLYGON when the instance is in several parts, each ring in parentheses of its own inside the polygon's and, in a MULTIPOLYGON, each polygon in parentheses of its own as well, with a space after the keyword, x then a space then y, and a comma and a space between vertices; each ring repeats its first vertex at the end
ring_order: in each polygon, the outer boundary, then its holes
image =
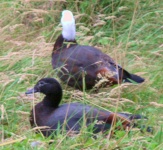
MULTIPOLYGON (((162 8, 162 0, 1 0, 0 149, 161 150, 163 106, 159 104, 163 104, 162 8), (100 47, 126 70, 143 76, 146 82, 123 87, 123 101, 119 101, 117 86, 101 89, 98 94, 83 94, 61 83, 64 88, 62 103, 78 101, 107 110, 146 115, 149 119, 144 124, 154 127, 153 134, 141 133, 139 130, 129 134, 116 131, 110 139, 100 133, 94 139, 87 129, 83 129, 75 137, 58 134, 49 145, 49 138, 32 131, 29 125, 32 98, 24 93, 42 77, 57 78, 51 66, 51 52, 61 32, 59 23, 63 9, 72 10, 76 16, 80 44, 100 47), (31 143, 35 141, 40 144, 32 147, 31 143)), ((38 102, 43 95, 35 97, 38 102)))

